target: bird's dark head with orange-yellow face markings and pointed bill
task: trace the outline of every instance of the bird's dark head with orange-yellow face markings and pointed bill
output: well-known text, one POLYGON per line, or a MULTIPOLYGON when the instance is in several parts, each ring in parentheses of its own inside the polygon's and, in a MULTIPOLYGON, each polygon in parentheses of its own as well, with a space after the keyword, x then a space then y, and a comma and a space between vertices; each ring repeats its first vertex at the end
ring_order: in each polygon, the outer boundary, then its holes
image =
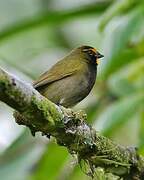
POLYGON ((95 48, 91 46, 81 46, 77 48, 79 53, 82 53, 84 58, 92 64, 98 65, 99 59, 104 57, 102 54, 100 54, 95 48))

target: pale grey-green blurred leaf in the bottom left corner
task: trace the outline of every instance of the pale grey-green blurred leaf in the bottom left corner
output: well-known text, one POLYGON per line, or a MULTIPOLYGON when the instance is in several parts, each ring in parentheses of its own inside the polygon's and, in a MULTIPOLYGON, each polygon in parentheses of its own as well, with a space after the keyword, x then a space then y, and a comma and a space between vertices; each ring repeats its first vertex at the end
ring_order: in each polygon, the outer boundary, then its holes
POLYGON ((42 151, 43 146, 39 147, 31 135, 25 131, 0 156, 0 178, 2 180, 25 180, 42 151))

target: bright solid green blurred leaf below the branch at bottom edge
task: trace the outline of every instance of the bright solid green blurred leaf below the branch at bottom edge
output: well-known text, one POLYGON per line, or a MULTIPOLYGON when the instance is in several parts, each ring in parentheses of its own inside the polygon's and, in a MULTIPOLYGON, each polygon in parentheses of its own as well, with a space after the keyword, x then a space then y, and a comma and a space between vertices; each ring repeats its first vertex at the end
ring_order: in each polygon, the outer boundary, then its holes
POLYGON ((54 142, 49 143, 47 150, 37 164, 32 179, 57 179, 68 157, 66 148, 60 147, 54 142))

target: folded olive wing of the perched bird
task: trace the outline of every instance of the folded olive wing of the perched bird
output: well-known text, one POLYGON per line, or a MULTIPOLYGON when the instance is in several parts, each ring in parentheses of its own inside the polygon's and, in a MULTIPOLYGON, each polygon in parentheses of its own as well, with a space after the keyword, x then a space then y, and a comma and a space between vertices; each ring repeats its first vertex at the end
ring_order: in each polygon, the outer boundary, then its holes
POLYGON ((63 60, 56 63, 50 70, 42 74, 38 80, 33 83, 35 88, 50 84, 65 77, 71 76, 78 71, 80 65, 77 61, 63 60))

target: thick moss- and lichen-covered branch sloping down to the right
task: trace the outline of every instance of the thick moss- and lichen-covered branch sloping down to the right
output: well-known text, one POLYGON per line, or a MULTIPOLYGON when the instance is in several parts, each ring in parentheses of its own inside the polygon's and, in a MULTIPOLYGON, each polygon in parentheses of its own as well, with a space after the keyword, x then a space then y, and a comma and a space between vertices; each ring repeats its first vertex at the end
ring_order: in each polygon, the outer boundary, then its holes
POLYGON ((40 95, 31 85, 0 69, 0 100, 17 112, 16 122, 56 138, 71 154, 89 165, 124 179, 142 179, 144 159, 135 148, 123 147, 100 135, 86 123, 86 115, 59 107, 40 95))

